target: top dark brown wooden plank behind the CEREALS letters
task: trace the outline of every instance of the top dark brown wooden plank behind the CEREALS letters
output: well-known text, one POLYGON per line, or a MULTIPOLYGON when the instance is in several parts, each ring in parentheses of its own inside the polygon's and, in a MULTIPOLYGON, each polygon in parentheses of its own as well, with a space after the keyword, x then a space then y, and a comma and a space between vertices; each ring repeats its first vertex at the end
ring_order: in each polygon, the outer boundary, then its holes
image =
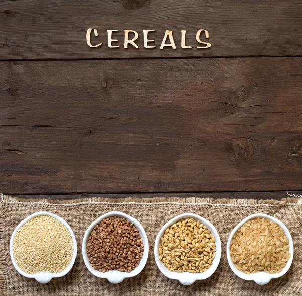
POLYGON ((298 56, 301 23, 300 0, 0 1, 0 60, 298 56), (101 47, 88 47, 88 28, 98 29, 93 42, 101 47), (123 30, 136 30, 140 48, 108 48, 107 29, 119 30, 120 47, 123 30), (211 48, 196 49, 198 29, 209 31, 211 48), (143 48, 142 30, 155 30, 150 39, 157 48, 143 48), (165 30, 173 31, 176 50, 159 49, 165 30), (181 30, 192 49, 181 49, 181 30))

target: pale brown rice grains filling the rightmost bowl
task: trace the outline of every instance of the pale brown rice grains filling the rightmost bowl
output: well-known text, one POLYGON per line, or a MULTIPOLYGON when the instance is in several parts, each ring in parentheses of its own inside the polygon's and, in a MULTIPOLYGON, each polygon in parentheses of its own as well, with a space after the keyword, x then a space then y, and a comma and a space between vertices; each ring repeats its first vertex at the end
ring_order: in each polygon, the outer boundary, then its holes
POLYGON ((247 221, 233 236, 230 255, 235 267, 247 274, 279 273, 291 256, 284 231, 267 218, 247 221))

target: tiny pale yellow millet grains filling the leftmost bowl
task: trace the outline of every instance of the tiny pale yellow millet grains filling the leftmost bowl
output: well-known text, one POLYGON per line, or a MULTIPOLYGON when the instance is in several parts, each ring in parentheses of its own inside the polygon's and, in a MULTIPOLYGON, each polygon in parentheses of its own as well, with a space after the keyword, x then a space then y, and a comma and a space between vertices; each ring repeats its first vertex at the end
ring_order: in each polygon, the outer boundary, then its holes
POLYGON ((71 262, 73 240, 60 221, 47 215, 37 216, 17 231, 13 254, 19 268, 26 273, 59 273, 71 262))

